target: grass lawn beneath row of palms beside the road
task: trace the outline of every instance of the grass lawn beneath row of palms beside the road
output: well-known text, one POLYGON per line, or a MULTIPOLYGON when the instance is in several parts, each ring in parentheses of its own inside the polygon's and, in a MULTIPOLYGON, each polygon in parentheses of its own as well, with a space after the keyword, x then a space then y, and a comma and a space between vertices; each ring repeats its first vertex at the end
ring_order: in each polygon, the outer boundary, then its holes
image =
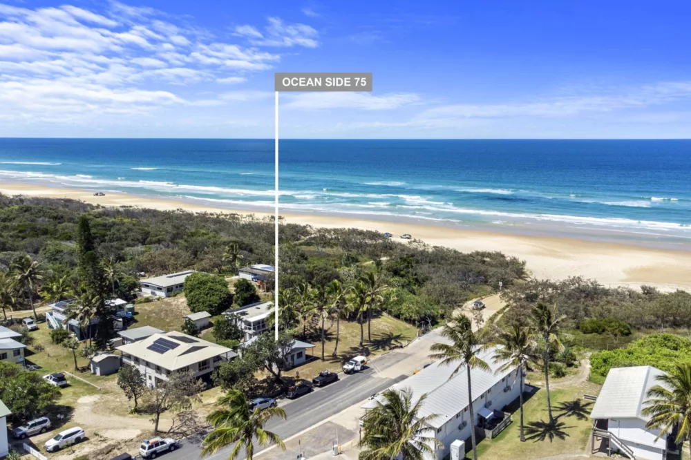
POLYGON ((364 325, 365 341, 360 347, 360 326, 352 321, 341 320, 339 347, 337 356, 332 356, 336 345, 336 324, 326 325, 325 334, 325 361, 321 361, 321 331, 319 327, 307 327, 307 336, 303 338, 302 328, 296 331, 296 338, 316 345, 307 352, 310 361, 292 370, 285 372, 292 376, 295 372, 300 373, 301 378, 311 380, 322 370, 338 372, 343 367, 343 363, 353 356, 362 354, 364 356, 376 356, 388 352, 388 350, 406 345, 417 336, 417 329, 413 325, 404 323, 401 320, 383 315, 372 319, 372 341, 367 340, 367 324, 364 325))

